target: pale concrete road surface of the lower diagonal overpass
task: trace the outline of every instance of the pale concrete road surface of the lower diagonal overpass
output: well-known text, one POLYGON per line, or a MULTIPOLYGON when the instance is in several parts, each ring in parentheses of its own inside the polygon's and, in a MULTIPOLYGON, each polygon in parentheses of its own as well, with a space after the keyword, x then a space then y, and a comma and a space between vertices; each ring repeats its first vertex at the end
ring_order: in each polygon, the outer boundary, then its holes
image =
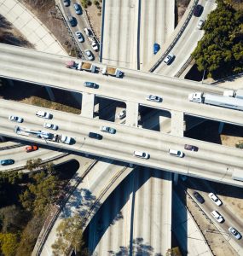
POLYGON ((20 126, 43 130, 44 120, 35 116, 38 107, 31 105, 0 101, 0 133, 6 137, 20 138, 35 143, 48 144, 57 148, 66 148, 88 154, 124 160, 137 165, 149 166, 155 169, 184 173, 186 175, 213 179, 217 182, 231 183, 242 186, 241 182, 231 179, 234 168, 243 168, 242 151, 238 148, 229 148, 213 143, 205 143, 186 137, 175 137, 158 131, 127 127, 103 120, 83 118, 72 113, 63 113, 52 110, 55 125, 59 125, 58 133, 71 136, 76 143, 66 145, 44 141, 38 138, 19 136, 14 133, 14 124, 8 119, 9 114, 16 114, 25 119, 20 126), (18 110, 17 110, 18 109, 18 110), (101 141, 88 137, 90 131, 99 132, 101 125, 109 125, 117 129, 116 134, 102 133, 101 141), (169 148, 184 151, 185 143, 196 145, 199 152, 184 152, 184 158, 176 158, 168 154, 169 148), (146 151, 150 154, 149 160, 135 158, 134 150, 146 151), (227 159, 225 155, 228 155, 227 159))

